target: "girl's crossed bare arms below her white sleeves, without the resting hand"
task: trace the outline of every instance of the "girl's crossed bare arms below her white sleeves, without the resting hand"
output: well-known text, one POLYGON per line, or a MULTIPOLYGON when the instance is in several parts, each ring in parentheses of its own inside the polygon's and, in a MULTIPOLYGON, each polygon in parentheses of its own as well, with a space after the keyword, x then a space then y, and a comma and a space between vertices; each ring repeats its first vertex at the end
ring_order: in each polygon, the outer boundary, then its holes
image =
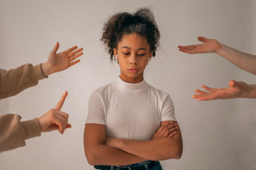
MULTIPOLYGON (((169 121, 162 121, 161 126, 167 122, 169 121)), ((139 141, 107 137, 105 125, 94 123, 85 126, 84 147, 90 165, 111 166, 130 165, 147 160, 179 159, 183 151, 179 128, 172 137, 139 141)))

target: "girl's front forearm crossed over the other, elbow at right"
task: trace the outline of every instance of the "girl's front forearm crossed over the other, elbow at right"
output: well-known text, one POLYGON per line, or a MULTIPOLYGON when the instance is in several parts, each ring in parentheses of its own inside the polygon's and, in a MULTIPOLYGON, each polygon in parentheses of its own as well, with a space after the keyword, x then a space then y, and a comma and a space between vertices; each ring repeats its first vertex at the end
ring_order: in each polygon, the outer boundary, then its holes
MULTIPOLYGON (((162 121, 161 125, 168 121, 162 121)), ((174 123, 177 123, 174 121, 174 123)), ((149 141, 110 138, 107 145, 153 161, 180 159, 183 152, 181 130, 173 137, 162 137, 149 141)), ((106 144, 106 143, 105 143, 106 144)))

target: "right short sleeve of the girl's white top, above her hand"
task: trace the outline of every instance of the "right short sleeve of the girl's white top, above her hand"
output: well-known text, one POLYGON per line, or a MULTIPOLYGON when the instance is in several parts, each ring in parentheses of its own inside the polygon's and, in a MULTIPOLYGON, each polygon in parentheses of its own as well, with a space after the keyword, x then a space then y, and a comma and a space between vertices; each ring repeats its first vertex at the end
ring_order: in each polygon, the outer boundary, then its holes
POLYGON ((160 121, 177 121, 174 113, 174 104, 169 94, 165 96, 163 101, 160 121))

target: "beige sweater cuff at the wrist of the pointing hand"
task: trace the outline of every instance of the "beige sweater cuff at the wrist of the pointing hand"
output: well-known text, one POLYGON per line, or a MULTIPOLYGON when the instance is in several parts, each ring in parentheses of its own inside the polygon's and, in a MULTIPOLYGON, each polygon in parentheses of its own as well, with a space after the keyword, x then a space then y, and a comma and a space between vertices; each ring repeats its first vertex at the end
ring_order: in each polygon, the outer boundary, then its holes
POLYGON ((41 136, 41 127, 37 118, 29 121, 22 121, 21 125, 25 130, 25 139, 41 136))

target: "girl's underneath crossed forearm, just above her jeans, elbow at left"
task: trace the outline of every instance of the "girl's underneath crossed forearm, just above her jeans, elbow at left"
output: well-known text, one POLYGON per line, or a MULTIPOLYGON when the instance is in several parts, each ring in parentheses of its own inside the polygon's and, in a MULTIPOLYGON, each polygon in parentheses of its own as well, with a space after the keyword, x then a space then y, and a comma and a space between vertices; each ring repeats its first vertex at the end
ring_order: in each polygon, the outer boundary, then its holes
POLYGON ((149 160, 107 145, 98 145, 85 155, 90 165, 125 166, 149 160))

